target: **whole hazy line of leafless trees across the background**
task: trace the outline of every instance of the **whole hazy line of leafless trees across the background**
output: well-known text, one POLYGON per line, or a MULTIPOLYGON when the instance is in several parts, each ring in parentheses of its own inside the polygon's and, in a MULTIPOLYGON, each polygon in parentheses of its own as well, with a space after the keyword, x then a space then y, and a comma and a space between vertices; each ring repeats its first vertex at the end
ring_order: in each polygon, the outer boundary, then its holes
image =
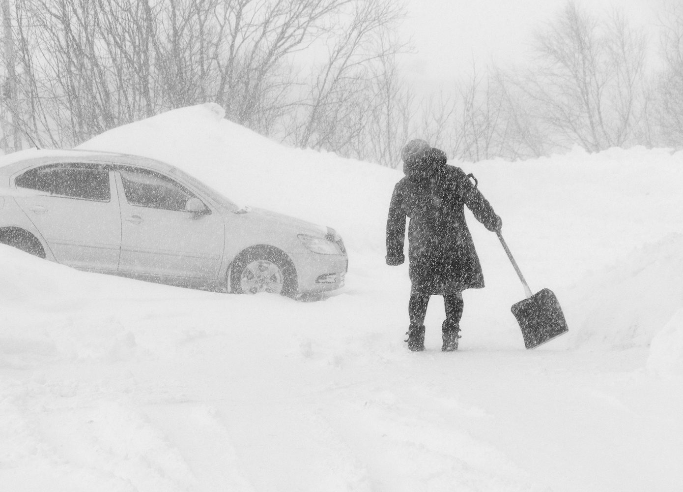
POLYGON ((5 95, 18 81, 16 97, 0 107, 5 148, 13 127, 39 144, 65 146, 206 101, 264 135, 390 167, 414 137, 471 161, 573 144, 589 151, 654 145, 660 132, 668 144, 683 142, 677 5, 664 22, 665 70, 656 83, 646 76, 646 39, 624 14, 598 17, 570 1, 536 33, 525 68, 473 65, 449 91, 423 101, 400 77, 397 56, 408 47, 393 36, 404 13, 393 0, 13 5, 14 24, 6 27, 16 62, 0 52, 7 75, 16 68, 5 95))

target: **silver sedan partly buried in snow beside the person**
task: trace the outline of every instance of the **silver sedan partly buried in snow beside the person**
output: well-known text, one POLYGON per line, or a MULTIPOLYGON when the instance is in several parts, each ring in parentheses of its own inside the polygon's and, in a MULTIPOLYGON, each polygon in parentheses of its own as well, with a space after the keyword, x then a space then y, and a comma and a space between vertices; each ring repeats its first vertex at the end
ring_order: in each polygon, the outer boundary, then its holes
POLYGON ((0 243, 79 270, 290 297, 339 289, 333 229, 240 208, 154 159, 96 151, 0 158, 0 243))

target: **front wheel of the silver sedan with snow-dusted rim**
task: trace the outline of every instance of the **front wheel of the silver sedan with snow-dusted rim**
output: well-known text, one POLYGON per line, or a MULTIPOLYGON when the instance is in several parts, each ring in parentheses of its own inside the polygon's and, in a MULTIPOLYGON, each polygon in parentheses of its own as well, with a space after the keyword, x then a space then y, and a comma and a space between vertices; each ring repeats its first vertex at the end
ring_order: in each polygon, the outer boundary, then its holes
POLYGON ((289 257, 273 246, 249 248, 232 265, 230 292, 270 292, 293 298, 296 296, 296 270, 289 257))

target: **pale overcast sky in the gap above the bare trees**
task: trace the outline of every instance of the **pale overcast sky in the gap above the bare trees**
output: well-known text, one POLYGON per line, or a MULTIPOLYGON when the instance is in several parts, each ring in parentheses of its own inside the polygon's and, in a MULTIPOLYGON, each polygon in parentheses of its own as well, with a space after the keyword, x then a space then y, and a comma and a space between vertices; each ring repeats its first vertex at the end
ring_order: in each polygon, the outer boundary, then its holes
MULTIPOLYGON (((656 5, 662 0, 583 1, 591 12, 623 8, 635 25, 654 36, 656 5)), ((404 73, 428 89, 454 81, 472 61, 484 68, 521 62, 535 26, 556 16, 565 0, 407 0, 402 29, 416 53, 403 59, 404 73)), ((653 40, 653 41, 656 41, 653 40)), ((652 44, 653 47, 654 43, 652 44)))

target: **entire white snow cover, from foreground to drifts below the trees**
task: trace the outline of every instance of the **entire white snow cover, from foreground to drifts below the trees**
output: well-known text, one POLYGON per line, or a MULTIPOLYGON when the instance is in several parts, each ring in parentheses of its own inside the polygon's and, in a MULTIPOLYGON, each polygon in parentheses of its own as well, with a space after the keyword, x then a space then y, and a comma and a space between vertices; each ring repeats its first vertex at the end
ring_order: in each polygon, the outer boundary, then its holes
POLYGON ((470 215, 487 287, 464 293, 458 352, 439 350, 433 298, 412 353, 407 266, 384 262, 401 173, 221 117, 178 109, 82 147, 334 227, 346 287, 318 302, 199 292, 0 245, 1 491, 683 490, 683 153, 458 164, 570 333, 524 349, 522 287, 470 215))

